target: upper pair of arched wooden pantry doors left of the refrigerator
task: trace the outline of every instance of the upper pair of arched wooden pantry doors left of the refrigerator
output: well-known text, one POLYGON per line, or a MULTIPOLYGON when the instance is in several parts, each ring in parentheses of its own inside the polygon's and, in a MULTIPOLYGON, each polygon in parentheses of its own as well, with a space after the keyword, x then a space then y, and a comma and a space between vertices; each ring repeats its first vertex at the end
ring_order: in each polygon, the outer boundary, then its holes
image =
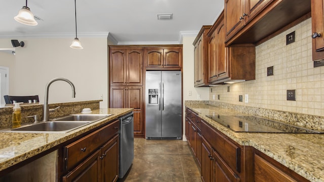
POLYGON ((143 49, 109 49, 110 85, 143 85, 143 49))

